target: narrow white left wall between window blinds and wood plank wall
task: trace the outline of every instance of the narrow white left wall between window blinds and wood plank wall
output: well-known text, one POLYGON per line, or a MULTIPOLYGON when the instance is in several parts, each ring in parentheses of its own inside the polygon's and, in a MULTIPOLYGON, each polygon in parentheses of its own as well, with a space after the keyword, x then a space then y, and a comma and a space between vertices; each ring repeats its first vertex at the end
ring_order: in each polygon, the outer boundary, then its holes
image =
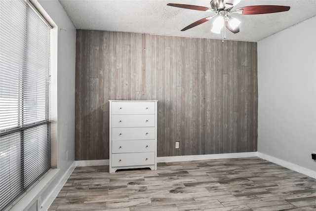
POLYGON ((58 0, 38 0, 38 2, 58 27, 57 74, 52 73, 52 77, 55 77, 54 88, 52 88, 52 110, 53 113, 55 112, 53 119, 57 121, 53 137, 56 143, 52 146, 52 165, 55 166, 54 162, 57 161, 59 171, 54 181, 41 195, 41 201, 46 201, 43 209, 45 210, 47 202, 49 205, 49 202, 53 200, 49 197, 55 197, 54 194, 50 195, 51 191, 60 180, 67 179, 63 177, 68 176, 69 169, 72 170, 75 165, 76 28, 58 0), (54 156, 57 156, 57 159, 54 156))

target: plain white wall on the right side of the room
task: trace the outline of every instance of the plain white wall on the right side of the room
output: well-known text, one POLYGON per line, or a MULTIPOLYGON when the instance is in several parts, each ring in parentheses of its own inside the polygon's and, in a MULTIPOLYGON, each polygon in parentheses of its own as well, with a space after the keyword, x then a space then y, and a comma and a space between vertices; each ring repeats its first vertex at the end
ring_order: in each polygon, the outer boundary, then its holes
POLYGON ((313 176, 312 151, 316 17, 258 42, 258 153, 311 170, 313 176))

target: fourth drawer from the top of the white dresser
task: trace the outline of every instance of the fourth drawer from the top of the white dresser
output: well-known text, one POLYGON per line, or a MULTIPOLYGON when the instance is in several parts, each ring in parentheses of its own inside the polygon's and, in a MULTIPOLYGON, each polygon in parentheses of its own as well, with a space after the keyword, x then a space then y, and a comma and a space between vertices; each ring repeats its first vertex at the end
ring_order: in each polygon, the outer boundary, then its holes
POLYGON ((112 142, 112 153, 155 152, 155 140, 123 140, 112 142))

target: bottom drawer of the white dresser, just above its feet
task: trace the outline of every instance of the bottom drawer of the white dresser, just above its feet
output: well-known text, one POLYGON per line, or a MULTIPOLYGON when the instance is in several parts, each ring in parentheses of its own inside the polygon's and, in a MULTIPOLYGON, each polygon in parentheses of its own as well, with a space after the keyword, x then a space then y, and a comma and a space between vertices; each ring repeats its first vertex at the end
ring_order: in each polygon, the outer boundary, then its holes
POLYGON ((155 164, 155 152, 112 154, 112 167, 155 164))

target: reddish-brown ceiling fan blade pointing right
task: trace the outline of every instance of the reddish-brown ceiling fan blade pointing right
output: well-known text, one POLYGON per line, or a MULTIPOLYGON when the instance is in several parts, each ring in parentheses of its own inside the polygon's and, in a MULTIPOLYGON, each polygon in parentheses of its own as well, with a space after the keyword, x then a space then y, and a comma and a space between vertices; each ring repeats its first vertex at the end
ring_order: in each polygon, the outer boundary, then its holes
POLYGON ((290 9, 289 6, 254 5, 254 6, 240 7, 236 9, 236 12, 242 15, 256 15, 256 14, 266 14, 266 13, 275 13, 275 12, 285 12, 285 11, 288 11, 289 9, 290 9))

